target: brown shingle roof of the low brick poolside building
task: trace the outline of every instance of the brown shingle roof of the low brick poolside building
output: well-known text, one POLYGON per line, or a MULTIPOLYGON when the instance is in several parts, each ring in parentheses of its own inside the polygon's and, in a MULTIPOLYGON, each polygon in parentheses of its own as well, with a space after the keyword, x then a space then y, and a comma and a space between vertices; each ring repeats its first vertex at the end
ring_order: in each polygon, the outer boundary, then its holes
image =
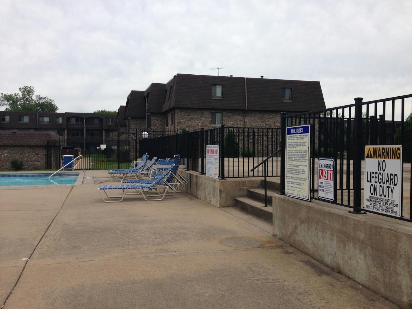
POLYGON ((50 131, 15 131, 0 130, 0 145, 44 146, 48 140, 59 140, 56 133, 50 131))

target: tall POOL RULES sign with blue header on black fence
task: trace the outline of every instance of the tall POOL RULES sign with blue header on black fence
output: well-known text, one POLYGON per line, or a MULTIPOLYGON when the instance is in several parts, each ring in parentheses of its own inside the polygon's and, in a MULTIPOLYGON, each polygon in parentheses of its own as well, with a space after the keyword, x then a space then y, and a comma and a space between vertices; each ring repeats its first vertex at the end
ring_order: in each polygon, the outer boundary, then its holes
POLYGON ((285 194, 310 201, 310 124, 286 128, 285 194))

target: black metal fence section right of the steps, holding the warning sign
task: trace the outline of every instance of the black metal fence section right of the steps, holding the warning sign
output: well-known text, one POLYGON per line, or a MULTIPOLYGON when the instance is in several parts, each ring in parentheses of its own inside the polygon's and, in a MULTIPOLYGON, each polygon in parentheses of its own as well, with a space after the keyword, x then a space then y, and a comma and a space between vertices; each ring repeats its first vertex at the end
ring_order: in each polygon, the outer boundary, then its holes
MULTIPOLYGON (((372 212, 363 207, 365 145, 402 145, 405 189, 401 189, 405 191, 402 192, 400 219, 412 221, 412 94, 368 102, 362 100, 356 98, 351 105, 313 112, 283 113, 284 126, 311 125, 311 198, 318 199, 318 158, 333 157, 337 162, 337 197, 332 203, 351 207, 354 213, 372 212)), ((283 176, 281 186, 284 190, 283 176)))

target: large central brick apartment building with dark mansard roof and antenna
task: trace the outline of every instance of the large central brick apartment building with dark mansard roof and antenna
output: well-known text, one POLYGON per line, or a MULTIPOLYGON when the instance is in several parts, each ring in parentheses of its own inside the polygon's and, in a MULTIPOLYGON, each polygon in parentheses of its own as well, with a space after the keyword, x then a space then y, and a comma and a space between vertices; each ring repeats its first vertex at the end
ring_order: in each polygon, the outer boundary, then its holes
MULTIPOLYGON (((128 131, 280 127, 280 112, 325 108, 320 82, 177 74, 166 84, 132 90, 123 113, 128 131)), ((123 123, 123 122, 122 122, 123 123)))

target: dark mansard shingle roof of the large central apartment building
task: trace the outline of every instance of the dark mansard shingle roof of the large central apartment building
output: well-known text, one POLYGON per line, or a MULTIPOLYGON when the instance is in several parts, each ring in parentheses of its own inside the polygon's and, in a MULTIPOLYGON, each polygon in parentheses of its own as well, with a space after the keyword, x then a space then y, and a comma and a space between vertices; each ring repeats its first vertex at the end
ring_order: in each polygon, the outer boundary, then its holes
MULTIPOLYGON (((163 104, 162 111, 170 108, 244 110, 245 79, 248 110, 308 111, 325 108, 320 82, 177 74, 172 79, 174 84, 171 100, 168 104, 163 104), (222 99, 212 98, 212 84, 223 86, 222 99), (292 88, 291 101, 282 100, 282 88, 292 88)), ((168 87, 169 84, 170 82, 168 87)), ((164 96, 164 89, 158 93, 164 96)), ((147 109, 152 109, 150 103, 147 109)), ((153 112, 155 111, 158 112, 158 105, 154 108, 153 112)))

